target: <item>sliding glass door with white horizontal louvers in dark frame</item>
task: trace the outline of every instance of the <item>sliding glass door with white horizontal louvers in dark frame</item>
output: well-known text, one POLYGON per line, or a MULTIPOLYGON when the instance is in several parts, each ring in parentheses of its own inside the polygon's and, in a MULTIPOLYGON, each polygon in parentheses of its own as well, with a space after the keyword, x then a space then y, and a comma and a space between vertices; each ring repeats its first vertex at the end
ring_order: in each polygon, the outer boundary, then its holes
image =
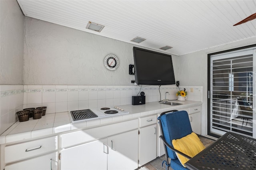
POLYGON ((255 135, 255 51, 250 48, 209 55, 208 133, 255 135))

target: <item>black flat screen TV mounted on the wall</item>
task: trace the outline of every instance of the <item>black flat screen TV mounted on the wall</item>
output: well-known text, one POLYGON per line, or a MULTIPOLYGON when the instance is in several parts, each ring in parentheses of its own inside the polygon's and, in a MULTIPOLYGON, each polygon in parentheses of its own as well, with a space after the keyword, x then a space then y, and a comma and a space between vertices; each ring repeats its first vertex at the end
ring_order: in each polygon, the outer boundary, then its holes
POLYGON ((133 47, 133 56, 138 85, 175 84, 171 55, 133 47))

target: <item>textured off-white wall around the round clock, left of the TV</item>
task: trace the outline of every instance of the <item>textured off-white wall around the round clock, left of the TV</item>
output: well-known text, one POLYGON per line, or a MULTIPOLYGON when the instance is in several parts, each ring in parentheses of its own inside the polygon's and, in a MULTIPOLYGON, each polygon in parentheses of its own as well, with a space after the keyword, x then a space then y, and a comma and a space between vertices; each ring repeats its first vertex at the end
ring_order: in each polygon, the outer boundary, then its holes
POLYGON ((25 27, 24 84, 132 85, 133 44, 28 17, 25 27), (104 66, 108 54, 119 59, 115 71, 104 66))

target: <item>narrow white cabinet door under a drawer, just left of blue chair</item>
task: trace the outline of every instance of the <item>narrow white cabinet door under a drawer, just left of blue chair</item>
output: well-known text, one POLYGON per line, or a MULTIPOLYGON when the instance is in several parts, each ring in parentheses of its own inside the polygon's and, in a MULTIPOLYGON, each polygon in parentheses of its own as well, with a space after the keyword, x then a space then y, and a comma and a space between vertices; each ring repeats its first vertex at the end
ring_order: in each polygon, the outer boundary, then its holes
POLYGON ((156 125, 140 128, 139 155, 139 166, 156 158, 156 125))

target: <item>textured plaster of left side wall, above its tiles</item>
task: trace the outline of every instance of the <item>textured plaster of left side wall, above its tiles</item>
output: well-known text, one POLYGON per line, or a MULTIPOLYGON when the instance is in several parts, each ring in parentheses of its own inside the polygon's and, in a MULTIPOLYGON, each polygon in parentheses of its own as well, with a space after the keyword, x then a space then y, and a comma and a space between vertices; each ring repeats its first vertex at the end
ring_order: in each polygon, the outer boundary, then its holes
POLYGON ((23 84, 24 16, 16 0, 0 1, 0 84, 23 84))

